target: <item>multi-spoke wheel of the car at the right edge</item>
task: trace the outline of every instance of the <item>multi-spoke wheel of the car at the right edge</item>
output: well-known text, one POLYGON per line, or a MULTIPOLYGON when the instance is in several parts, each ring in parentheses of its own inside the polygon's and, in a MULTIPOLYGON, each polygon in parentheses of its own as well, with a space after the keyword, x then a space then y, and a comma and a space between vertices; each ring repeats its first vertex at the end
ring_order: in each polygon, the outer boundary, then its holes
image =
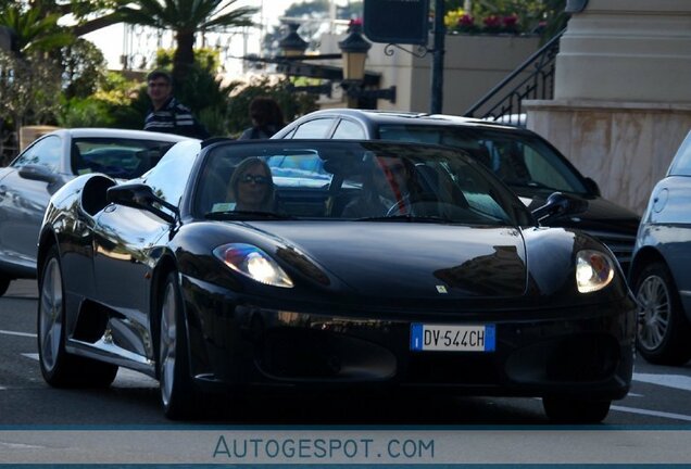
POLYGON ((683 365, 691 358, 691 326, 671 274, 662 263, 646 266, 636 279, 637 346, 650 363, 683 365))

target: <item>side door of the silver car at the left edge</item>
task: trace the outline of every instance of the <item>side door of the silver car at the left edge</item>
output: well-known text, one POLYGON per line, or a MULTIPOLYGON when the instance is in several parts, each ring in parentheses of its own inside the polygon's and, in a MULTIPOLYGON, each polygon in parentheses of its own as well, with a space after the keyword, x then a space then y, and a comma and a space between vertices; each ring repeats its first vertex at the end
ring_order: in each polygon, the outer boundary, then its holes
POLYGON ((0 261, 23 271, 36 269, 36 245, 43 213, 51 195, 64 183, 63 138, 49 135, 37 140, 5 169, 0 180, 0 261), (22 175, 28 165, 47 168, 53 181, 22 175))

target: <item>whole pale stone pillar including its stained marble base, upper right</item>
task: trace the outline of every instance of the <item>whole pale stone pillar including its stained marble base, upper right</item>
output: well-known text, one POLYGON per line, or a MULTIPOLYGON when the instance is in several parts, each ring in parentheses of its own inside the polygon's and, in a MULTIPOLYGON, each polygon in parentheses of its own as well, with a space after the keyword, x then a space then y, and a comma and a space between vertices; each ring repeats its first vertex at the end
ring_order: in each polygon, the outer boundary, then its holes
POLYGON ((560 46, 554 100, 524 103, 528 128, 642 213, 691 130, 691 1, 590 0, 560 46))

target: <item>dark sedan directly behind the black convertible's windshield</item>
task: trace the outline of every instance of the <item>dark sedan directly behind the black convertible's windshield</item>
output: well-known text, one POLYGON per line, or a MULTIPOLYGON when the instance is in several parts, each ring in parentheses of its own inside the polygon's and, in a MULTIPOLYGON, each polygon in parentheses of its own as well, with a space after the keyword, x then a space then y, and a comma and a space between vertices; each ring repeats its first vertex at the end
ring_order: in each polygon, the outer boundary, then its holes
MULTIPOLYGON (((531 130, 451 115, 335 109, 316 111, 300 117, 273 138, 410 140, 461 148, 491 167, 531 210, 544 204, 546 197, 555 190, 568 192, 588 202, 586 212, 577 216, 554 218, 546 225, 578 228, 598 237, 610 246, 624 270, 628 271, 640 217, 625 207, 604 200, 592 179, 582 176, 554 145, 531 130), (310 128, 311 126, 313 127, 310 128), (420 130, 425 128, 437 130, 429 132, 420 130), (436 136, 437 132, 439 134, 436 136), (443 132, 449 135, 444 136, 443 132), (556 183, 554 179, 550 180, 546 176, 536 177, 535 168, 529 168, 535 180, 530 185, 522 183, 516 178, 516 172, 526 170, 524 167, 512 167, 503 172, 497 156, 491 154, 491 143, 495 139, 525 142, 533 148, 536 153, 549 155, 544 161, 549 161, 550 165, 558 168, 560 178, 564 178, 564 186, 556 183), (549 187, 541 187, 541 185, 549 187)), ((530 156, 526 153, 524 157, 530 156)))

